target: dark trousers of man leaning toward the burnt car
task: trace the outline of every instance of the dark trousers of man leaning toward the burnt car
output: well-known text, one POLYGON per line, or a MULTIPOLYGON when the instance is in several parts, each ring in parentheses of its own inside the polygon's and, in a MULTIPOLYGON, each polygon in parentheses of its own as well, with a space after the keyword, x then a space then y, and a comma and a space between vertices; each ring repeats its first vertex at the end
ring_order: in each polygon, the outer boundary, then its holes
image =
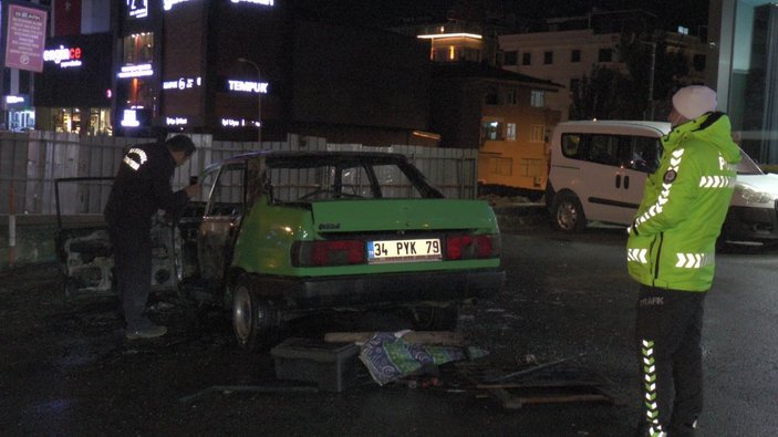
POLYGON ((146 227, 111 227, 116 287, 127 331, 152 325, 144 315, 152 288, 152 236, 146 227))

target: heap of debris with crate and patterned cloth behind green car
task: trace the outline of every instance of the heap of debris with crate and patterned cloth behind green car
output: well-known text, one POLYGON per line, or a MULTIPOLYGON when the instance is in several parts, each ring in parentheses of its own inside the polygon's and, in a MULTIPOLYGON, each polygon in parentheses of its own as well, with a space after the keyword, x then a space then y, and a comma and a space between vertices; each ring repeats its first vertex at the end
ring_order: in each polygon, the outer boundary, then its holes
POLYGON ((473 393, 476 397, 496 398, 510 409, 527 404, 616 404, 602 387, 602 378, 581 370, 559 368, 583 353, 541 364, 535 355, 527 354, 527 365, 504 370, 475 362, 488 352, 467 346, 454 332, 331 332, 324 340, 287 339, 273 347, 277 377, 313 382, 319 389, 342 392, 356 381, 356 370, 362 368, 356 364, 359 356, 381 386, 400 383, 413 389, 473 393))

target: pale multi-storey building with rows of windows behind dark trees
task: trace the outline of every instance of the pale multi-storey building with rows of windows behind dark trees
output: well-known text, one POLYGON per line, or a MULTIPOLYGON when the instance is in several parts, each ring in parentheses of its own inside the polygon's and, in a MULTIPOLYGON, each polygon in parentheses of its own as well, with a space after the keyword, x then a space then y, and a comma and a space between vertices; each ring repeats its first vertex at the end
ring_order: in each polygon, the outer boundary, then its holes
MULTIPOLYGON (((656 17, 642 10, 592 11, 584 17, 543 20, 542 25, 521 33, 499 35, 502 66, 506 70, 563 84, 567 91, 549 96, 550 108, 560 111, 562 119, 570 118, 573 93, 591 77, 595 67, 626 72, 622 44, 632 35, 646 44, 646 56, 656 58, 657 48, 681 52, 688 60, 688 75, 677 77, 684 83, 702 83, 707 48, 699 37, 687 30, 663 32, 656 17), (654 52, 652 52, 652 50, 654 52)), ((647 65, 651 63, 646 63, 647 65)), ((653 64, 651 64, 653 65, 653 64)), ((654 66, 655 67, 655 66, 654 66)), ((653 70, 651 72, 653 79, 653 70)), ((653 94, 650 90, 649 94, 653 94)), ((661 117, 654 106, 663 106, 662 96, 646 95, 644 117, 661 117), (658 97, 658 98, 657 98, 658 97), (656 104, 655 104, 656 103, 656 104)))

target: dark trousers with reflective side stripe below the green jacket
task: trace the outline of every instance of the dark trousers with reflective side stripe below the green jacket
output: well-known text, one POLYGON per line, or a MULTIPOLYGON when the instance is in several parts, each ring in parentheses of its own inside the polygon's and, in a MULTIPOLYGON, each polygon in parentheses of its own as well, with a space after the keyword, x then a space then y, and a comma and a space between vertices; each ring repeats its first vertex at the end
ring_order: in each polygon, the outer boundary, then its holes
POLYGON ((672 436, 703 409, 699 341, 706 294, 641 285, 635 331, 650 435, 672 436))

